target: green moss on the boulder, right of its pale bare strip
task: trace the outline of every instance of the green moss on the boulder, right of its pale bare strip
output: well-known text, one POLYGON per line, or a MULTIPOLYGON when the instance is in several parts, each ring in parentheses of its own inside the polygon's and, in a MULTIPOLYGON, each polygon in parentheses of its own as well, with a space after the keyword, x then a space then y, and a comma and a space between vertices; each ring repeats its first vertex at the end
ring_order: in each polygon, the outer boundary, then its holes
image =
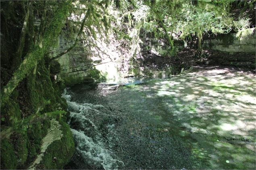
POLYGON ((59 123, 63 136, 60 140, 56 140, 48 146, 43 160, 37 165, 39 169, 63 169, 63 166, 73 156, 75 144, 70 128, 62 120, 59 123))

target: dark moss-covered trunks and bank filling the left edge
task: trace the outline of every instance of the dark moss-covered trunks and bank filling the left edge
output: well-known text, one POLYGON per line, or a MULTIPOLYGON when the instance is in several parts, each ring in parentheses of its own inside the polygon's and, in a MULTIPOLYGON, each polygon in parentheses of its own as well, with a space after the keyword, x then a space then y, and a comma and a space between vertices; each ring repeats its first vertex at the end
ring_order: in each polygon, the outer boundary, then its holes
MULTIPOLYGON (((12 50, 1 43, 1 47, 7 49, 4 54, 10 55, 6 59, 6 63, 10 64, 6 64, 4 68, 12 74, 3 83, 5 86, 1 87, 1 169, 29 167, 31 161, 40 154, 42 139, 48 133, 51 119, 60 122, 64 137, 58 143, 53 143, 54 150, 50 148, 47 151, 50 156, 58 152, 57 162, 53 163, 44 157, 42 168, 53 169, 58 164, 58 169, 62 169, 71 159, 74 143, 71 131, 65 123, 67 118, 62 117, 66 114, 62 110, 67 109, 67 104, 61 100, 58 88, 54 88, 57 85, 52 84, 46 53, 55 45, 62 31, 71 1, 17 1, 3 4, 8 7, 4 11, 10 11, 3 19, 10 22, 6 22, 8 30, 4 31, 1 24, 1 33, 10 47, 17 47, 12 50), (12 6, 15 6, 15 10, 12 6), (12 18, 13 13, 17 12, 16 8, 21 9, 20 7, 24 7, 26 11, 19 11, 18 19, 12 18), (40 18, 40 27, 34 25, 35 18, 40 18), (12 28, 13 25, 15 28, 12 28), (19 35, 14 36, 13 32, 18 32, 19 35)), ((2 59, 1 56, 1 61, 2 59)))

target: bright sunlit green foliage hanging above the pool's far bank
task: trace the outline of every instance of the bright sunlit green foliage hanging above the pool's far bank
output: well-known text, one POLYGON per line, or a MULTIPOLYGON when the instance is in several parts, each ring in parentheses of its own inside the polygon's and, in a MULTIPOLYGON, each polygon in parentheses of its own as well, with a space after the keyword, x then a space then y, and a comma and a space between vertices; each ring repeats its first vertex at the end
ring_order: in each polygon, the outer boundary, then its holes
MULTIPOLYGON (((125 0, 121 1, 126 4, 125 0)), ((206 33, 229 33, 233 27, 233 18, 229 8, 233 1, 220 0, 154 0, 135 1, 135 6, 123 6, 122 9, 110 6, 109 15, 112 27, 123 47, 135 55, 139 47, 139 35, 153 35, 167 39, 167 55, 175 55, 174 39, 198 37, 200 47, 206 33)), ((201 47, 200 47, 201 48, 201 47)))

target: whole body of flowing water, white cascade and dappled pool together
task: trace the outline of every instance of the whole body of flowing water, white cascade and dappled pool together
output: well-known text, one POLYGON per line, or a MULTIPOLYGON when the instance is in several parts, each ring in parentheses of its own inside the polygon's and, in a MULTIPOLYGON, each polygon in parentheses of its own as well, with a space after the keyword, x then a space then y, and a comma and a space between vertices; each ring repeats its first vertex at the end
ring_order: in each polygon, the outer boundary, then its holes
POLYGON ((67 169, 255 169, 256 80, 228 68, 65 89, 67 169))

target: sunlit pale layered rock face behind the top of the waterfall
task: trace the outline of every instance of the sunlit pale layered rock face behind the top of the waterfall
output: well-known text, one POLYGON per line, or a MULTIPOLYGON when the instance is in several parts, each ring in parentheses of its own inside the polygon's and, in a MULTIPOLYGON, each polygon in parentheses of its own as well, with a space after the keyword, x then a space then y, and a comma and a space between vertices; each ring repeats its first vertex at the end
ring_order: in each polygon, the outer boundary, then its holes
MULTIPOLYGON (((56 48, 50 49, 49 55, 54 57, 65 51, 74 41, 65 39, 61 35, 56 48)), ((91 82, 97 79, 116 81, 129 74, 129 59, 121 43, 109 35, 109 41, 100 38, 86 37, 80 39, 77 45, 65 55, 57 59, 60 63, 58 80, 63 80, 65 84, 77 84, 80 82, 91 82)))

